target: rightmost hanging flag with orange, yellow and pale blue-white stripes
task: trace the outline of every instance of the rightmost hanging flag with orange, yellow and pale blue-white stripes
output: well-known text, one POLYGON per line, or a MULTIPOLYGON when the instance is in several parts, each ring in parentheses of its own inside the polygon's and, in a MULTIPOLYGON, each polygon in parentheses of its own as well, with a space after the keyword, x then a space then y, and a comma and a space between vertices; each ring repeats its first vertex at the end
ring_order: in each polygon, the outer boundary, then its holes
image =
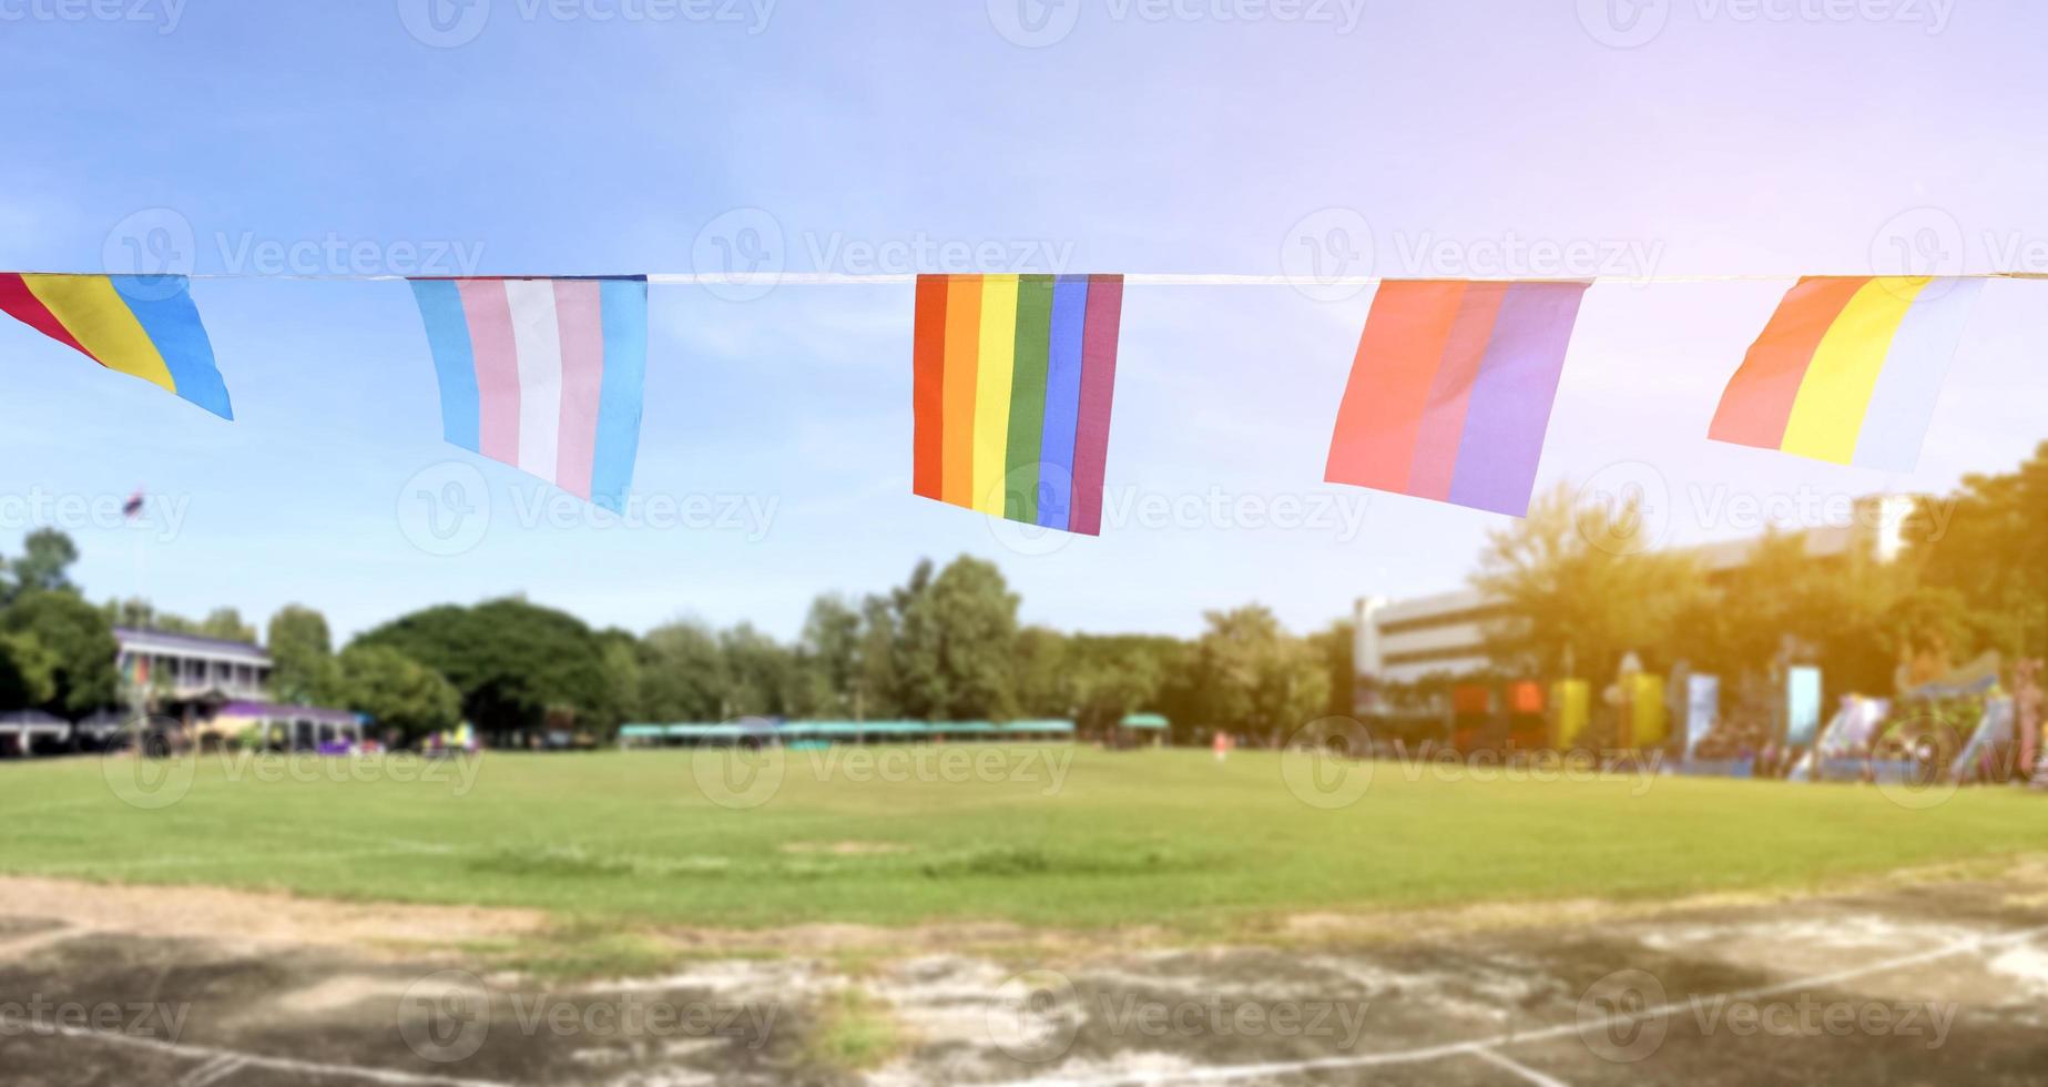
POLYGON ((1982 287, 1937 276, 1798 280, 1729 379, 1706 436, 1913 471, 1982 287))

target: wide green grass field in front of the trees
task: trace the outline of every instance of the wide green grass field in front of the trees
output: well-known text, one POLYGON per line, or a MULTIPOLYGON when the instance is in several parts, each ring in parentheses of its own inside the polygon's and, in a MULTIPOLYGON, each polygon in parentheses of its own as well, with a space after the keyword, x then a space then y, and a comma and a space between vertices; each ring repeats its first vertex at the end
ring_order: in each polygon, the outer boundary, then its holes
POLYGON ((911 780, 881 780, 905 774, 877 770, 877 749, 868 764, 793 751, 754 809, 707 800, 684 751, 489 753, 467 788, 446 762, 307 762, 311 780, 291 780, 276 759, 207 755, 156 811, 109 784, 133 792, 133 759, 10 762, 0 870, 541 907, 565 921, 1202 933, 1292 911, 1808 886, 2048 852, 2044 800, 2009 788, 1909 811, 1870 786, 1442 780, 1376 764, 1362 798, 1319 809, 1274 753, 1219 768, 1202 751, 954 747, 948 774, 897 751, 911 780), (969 753, 1012 766, 961 780, 969 753), (1063 778, 1049 757, 1071 757, 1063 778), (428 766, 434 778, 418 780, 428 766))

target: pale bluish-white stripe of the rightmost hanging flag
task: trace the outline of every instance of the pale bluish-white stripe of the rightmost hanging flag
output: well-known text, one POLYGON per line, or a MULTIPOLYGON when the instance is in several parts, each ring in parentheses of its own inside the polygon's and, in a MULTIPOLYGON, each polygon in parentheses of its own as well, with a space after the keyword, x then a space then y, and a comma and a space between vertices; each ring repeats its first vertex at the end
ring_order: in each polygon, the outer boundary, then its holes
POLYGON ((1937 278, 1913 299, 1870 391, 1864 430, 1855 436, 1855 467, 1894 473, 1919 467, 1948 364, 1982 289, 1980 278, 1937 278))

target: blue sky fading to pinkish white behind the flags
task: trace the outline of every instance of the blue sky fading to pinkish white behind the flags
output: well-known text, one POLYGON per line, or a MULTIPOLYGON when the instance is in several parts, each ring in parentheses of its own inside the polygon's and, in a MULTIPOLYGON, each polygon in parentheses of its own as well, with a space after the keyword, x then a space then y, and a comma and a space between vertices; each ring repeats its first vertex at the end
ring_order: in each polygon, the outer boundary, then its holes
MULTIPOLYGON (((0 268, 2048 272, 2044 37, 2023 0, 0 0, 0 268)), ((1995 282, 1919 473, 1706 442, 1784 287, 1595 287, 1542 481, 1726 538, 2048 438, 2048 285, 1995 282)), ((1456 588, 1503 524, 1321 483, 1370 291, 1133 287, 1106 532, 1051 551, 909 493, 909 287, 754 295, 653 289, 635 524, 440 442, 401 282, 199 282, 233 424, 0 325, 0 551, 57 524, 94 598, 342 633, 526 592, 776 635, 975 553, 1026 620, 1190 633, 1456 588), (135 487, 156 522, 109 522, 135 487)))

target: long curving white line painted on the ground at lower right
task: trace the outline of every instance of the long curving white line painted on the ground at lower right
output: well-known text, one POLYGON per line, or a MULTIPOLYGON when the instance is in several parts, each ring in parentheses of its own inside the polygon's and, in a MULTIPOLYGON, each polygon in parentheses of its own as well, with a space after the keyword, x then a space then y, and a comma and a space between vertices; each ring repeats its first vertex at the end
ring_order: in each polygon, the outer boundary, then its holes
MULTIPOLYGON (((1692 999, 1726 999, 1726 1001, 1753 1001, 1759 997, 1778 997, 1784 993, 1798 993, 1800 989, 1812 985, 1833 985, 1837 981, 1853 981, 1868 974, 1882 974, 1886 970, 1898 970, 1903 966, 1919 966, 1921 962, 1937 962, 1942 958, 1952 958, 1964 952, 1987 952, 1991 948, 2005 948, 2009 944, 2025 944, 2038 936, 2048 936, 2048 925, 2009 931, 2003 936, 1987 936, 1980 940, 1960 940, 1946 948, 1933 948, 1919 954, 1907 954, 1898 958, 1886 958, 1882 962, 1866 962, 1862 966, 1849 966, 1845 970, 1831 970, 1827 974, 1815 974, 1796 981, 1784 981, 1778 985, 1761 985, 1755 989, 1743 989, 1739 993, 1720 993, 1718 997, 1692 997, 1692 999)), ((1616 1024, 1634 1024, 1638 1019, 1655 1019, 1665 1015, 1675 1015, 1688 1011, 1690 1003, 1665 1003, 1659 1007, 1649 1007, 1630 1015, 1602 1015, 1597 1019, 1579 1019, 1573 1024, 1559 1024, 1542 1030, 1532 1030, 1526 1034, 1495 1034, 1493 1038, 1475 1038, 1470 1042, 1444 1042, 1438 1046, 1419 1046, 1413 1050, 1389 1050, 1389 1052, 1366 1052, 1358 1056, 1319 1056, 1313 1060, 1278 1060, 1272 1064, 1225 1064, 1217 1069, 1176 1069, 1171 1073, 1135 1073, 1135 1075, 1110 1075, 1110 1077, 1085 1077, 1085 1079, 1018 1079, 1001 1087, 1118 1087, 1124 1083, 1229 1083, 1235 1079, 1260 1079, 1276 1075, 1298 1075, 1298 1073, 1321 1073, 1333 1069, 1372 1069, 1384 1064, 1421 1064, 1427 1060, 1442 1060, 1446 1056, 1479 1056, 1485 1050, 1495 1050, 1501 1046, 1516 1046, 1522 1042, 1548 1042, 1552 1038, 1571 1038, 1581 1030, 1606 1030, 1616 1024)))

